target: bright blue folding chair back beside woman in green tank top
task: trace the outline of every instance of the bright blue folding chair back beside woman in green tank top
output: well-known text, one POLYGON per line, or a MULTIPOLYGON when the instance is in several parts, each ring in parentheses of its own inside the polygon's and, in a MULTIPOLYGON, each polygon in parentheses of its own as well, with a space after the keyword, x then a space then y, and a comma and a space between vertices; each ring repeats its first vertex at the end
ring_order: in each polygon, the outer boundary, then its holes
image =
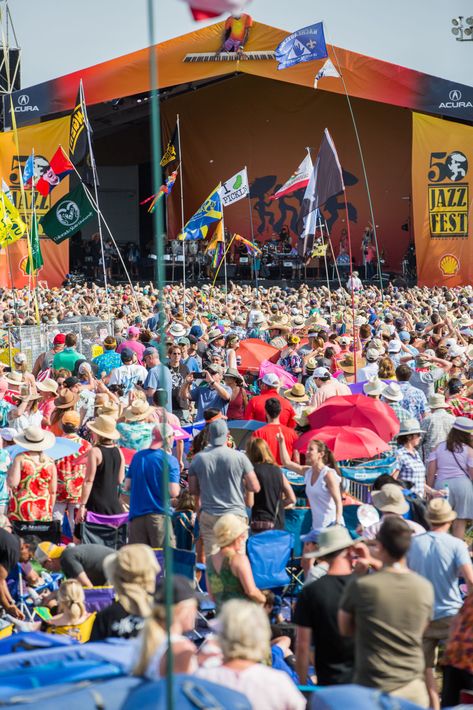
POLYGON ((293 536, 285 530, 265 530, 248 538, 246 551, 258 589, 278 589, 289 584, 286 566, 292 548, 293 536))

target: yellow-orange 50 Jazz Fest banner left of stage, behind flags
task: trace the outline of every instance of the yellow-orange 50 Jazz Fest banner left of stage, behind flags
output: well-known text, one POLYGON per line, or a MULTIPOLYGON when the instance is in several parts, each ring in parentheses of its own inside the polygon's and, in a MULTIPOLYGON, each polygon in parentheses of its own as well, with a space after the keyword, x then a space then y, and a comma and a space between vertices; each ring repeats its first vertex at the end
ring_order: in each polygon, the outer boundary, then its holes
MULTIPOLYGON (((25 162, 34 149, 35 176, 41 177, 49 166, 49 160, 54 155, 59 145, 67 147, 69 140, 69 116, 54 121, 47 121, 36 126, 20 128, 18 130, 18 145, 20 155, 17 153, 15 136, 12 131, 0 133, 0 185, 5 180, 12 193, 12 201, 19 209, 20 214, 28 225, 31 224, 32 192, 25 188, 26 214, 23 211, 20 189, 20 171, 23 172, 25 162)), ((67 194, 69 179, 65 178, 55 187, 47 197, 43 197, 36 190, 34 201, 38 221, 46 214, 51 205, 67 194)), ((69 271, 69 242, 55 244, 50 239, 45 239, 40 228, 41 252, 44 266, 38 271, 38 281, 50 288, 60 286, 69 271)), ((29 283, 25 273, 27 261, 26 237, 18 240, 7 249, 0 249, 0 284, 2 286, 22 288, 29 283)))

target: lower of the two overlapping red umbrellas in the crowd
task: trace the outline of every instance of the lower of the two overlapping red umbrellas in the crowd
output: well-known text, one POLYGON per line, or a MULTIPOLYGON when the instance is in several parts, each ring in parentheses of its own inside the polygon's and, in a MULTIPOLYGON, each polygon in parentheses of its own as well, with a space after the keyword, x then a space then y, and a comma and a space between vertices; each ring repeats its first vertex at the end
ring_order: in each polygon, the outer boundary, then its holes
POLYGON ((346 459, 371 459, 377 454, 389 449, 389 444, 383 441, 374 431, 363 427, 326 426, 322 429, 312 429, 296 441, 295 448, 305 454, 312 439, 324 441, 332 451, 337 461, 346 459))

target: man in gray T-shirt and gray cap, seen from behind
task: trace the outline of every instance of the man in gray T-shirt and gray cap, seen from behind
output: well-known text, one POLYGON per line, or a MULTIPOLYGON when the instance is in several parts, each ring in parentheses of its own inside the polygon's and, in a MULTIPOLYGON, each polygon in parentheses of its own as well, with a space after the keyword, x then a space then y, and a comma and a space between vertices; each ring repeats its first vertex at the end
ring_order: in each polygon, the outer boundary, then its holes
POLYGON ((227 446, 228 427, 224 419, 209 426, 209 445, 193 459, 189 468, 189 490, 200 496, 200 536, 206 555, 218 552, 213 527, 225 513, 247 521, 245 493, 258 493, 260 484, 250 460, 227 446))

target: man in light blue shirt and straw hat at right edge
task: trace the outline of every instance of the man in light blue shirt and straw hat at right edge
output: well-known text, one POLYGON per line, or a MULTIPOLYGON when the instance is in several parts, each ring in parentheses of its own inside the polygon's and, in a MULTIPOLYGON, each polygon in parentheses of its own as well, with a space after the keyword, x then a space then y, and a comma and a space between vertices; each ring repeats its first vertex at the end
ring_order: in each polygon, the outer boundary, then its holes
POLYGON ((463 605, 458 577, 465 579, 469 594, 473 593, 473 566, 468 548, 463 540, 448 532, 456 517, 447 500, 433 498, 427 508, 432 529, 412 538, 407 556, 410 569, 428 579, 434 588, 434 614, 424 632, 423 643, 430 707, 435 708, 440 707, 434 674, 437 647, 448 638, 463 605))

